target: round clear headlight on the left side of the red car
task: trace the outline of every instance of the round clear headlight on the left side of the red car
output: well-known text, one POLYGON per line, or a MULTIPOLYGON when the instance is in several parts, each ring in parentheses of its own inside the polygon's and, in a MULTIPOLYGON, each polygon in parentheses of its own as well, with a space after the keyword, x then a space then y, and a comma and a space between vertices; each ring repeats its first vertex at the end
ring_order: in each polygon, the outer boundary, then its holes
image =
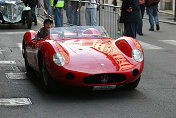
POLYGON ((58 52, 53 55, 53 61, 58 66, 63 66, 65 64, 64 56, 58 52))

